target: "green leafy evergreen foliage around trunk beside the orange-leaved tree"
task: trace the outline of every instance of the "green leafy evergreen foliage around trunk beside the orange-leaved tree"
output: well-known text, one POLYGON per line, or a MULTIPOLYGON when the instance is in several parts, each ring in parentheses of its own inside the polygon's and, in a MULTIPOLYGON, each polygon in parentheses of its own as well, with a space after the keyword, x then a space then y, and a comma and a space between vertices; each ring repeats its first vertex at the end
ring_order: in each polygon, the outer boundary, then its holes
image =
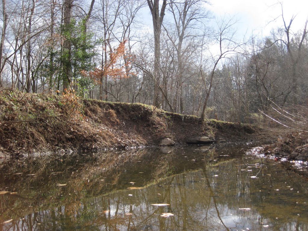
POLYGON ((50 79, 50 74, 54 73, 53 84, 63 81, 63 84, 68 86, 72 82, 75 93, 86 96, 87 92, 94 88, 94 82, 84 73, 92 71, 96 66, 93 62, 93 50, 100 41, 94 42, 93 33, 85 33, 83 20, 77 22, 75 19, 72 19, 68 26, 61 25, 54 40, 48 49, 48 55, 52 58, 46 59, 40 75, 44 76, 44 79, 50 79), (64 42, 69 44, 70 49, 63 46, 64 42), (67 69, 71 70, 72 79, 68 79, 67 69))

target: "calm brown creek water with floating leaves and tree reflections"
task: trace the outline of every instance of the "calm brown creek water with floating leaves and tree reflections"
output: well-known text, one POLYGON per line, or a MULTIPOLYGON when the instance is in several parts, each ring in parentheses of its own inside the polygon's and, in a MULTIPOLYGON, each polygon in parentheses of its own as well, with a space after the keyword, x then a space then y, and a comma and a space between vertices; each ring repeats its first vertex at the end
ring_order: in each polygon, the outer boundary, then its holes
POLYGON ((0 230, 308 230, 308 180, 247 149, 6 161, 0 191, 10 193, 0 195, 0 230))

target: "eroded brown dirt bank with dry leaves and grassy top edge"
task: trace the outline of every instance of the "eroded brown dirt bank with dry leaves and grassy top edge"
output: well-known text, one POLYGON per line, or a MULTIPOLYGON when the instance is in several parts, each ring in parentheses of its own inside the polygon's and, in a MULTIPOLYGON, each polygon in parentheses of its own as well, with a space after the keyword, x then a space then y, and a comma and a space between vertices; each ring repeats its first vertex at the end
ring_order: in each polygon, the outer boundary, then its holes
POLYGON ((163 138, 183 144, 205 135, 248 140, 251 125, 179 115, 134 103, 79 99, 74 93, 40 95, 0 92, 0 152, 9 155, 63 150, 101 150, 157 145, 163 138))

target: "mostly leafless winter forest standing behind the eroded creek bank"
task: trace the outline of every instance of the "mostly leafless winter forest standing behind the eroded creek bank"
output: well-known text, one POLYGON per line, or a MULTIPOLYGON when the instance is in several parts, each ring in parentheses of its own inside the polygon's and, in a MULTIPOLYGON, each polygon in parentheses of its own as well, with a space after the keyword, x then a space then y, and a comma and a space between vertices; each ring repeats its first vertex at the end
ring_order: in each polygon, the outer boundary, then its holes
POLYGON ((2 0, 0 87, 255 123, 307 103, 308 20, 277 4, 281 26, 244 40, 205 0, 2 0))

